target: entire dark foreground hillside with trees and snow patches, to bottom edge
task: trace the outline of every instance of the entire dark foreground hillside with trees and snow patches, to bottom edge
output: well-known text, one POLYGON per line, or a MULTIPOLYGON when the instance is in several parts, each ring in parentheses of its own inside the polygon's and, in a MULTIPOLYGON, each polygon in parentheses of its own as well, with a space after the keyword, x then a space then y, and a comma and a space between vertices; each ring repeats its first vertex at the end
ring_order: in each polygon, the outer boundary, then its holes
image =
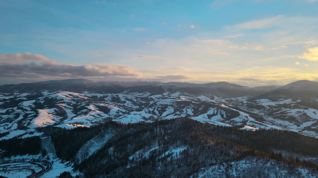
POLYGON ((0 149, 2 157, 29 154, 53 161, 53 167, 64 165, 60 172, 92 178, 318 175, 318 139, 291 131, 240 127, 190 118, 135 124, 110 121, 74 129, 48 126, 37 129, 43 139, 3 140, 0 149))

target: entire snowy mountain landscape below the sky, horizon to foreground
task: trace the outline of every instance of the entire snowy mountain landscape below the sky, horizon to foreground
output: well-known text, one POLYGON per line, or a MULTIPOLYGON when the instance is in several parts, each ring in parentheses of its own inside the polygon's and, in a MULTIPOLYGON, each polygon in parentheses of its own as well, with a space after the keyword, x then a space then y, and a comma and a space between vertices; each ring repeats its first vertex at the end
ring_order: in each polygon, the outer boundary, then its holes
POLYGON ((3 85, 0 176, 316 177, 317 87, 308 80, 3 85))

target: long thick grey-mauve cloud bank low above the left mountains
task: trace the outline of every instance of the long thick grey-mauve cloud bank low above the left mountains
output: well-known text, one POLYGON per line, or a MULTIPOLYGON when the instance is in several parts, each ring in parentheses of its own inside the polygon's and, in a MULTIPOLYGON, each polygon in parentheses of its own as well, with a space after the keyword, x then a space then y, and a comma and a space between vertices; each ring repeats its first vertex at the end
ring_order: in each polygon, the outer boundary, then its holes
POLYGON ((0 56, 0 76, 17 78, 43 77, 136 77, 129 66, 92 64, 77 66, 57 63, 40 54, 2 54, 0 56))

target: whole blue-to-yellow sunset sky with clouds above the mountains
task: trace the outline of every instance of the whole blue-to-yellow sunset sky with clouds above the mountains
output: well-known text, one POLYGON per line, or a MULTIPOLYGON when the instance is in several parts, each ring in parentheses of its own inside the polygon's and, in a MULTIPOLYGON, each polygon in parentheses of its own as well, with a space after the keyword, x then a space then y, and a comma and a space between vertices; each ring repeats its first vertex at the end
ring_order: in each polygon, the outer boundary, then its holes
POLYGON ((0 0, 0 83, 318 82, 318 0, 0 0))

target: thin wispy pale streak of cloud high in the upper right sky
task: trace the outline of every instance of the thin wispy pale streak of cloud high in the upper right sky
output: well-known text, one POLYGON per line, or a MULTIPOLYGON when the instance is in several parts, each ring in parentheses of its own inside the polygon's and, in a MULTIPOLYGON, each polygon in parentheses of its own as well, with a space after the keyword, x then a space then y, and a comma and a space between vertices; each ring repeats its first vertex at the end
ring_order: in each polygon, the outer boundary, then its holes
POLYGON ((285 15, 278 15, 269 18, 263 18, 259 20, 252 20, 244 23, 235 25, 236 29, 265 29, 273 25, 277 25, 280 20, 282 20, 285 15))

